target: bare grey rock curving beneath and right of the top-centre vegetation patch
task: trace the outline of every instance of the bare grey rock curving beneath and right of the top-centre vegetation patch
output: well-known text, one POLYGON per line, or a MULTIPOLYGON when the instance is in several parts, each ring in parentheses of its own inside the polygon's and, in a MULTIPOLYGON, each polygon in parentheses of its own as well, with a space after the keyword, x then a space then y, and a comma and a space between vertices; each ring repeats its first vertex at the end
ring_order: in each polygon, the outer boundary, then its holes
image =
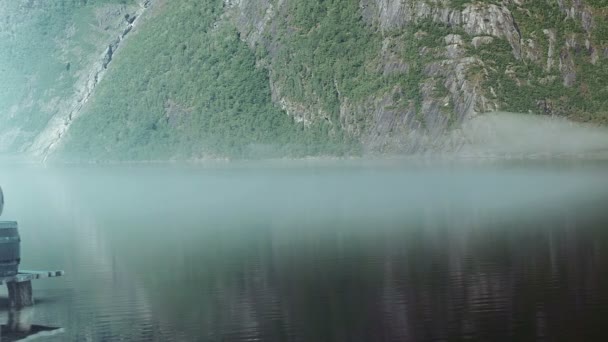
MULTIPOLYGON (((270 60, 264 62, 269 72, 272 70, 272 58, 280 51, 280 42, 264 40, 266 32, 272 37, 273 19, 275 16, 289 15, 282 13, 281 6, 288 1, 270 2, 270 0, 225 0, 227 16, 236 24, 241 39, 251 47, 264 44, 270 60), (267 64, 270 63, 270 64, 267 64)), ((467 5, 463 11, 451 8, 443 0, 361 0, 360 8, 363 18, 381 30, 402 29, 406 25, 422 20, 462 27, 474 38, 473 45, 479 47, 490 44, 494 39, 506 39, 513 48, 513 54, 520 58, 521 42, 517 26, 506 7, 474 3, 467 5)), ((417 32, 416 36, 423 34, 417 32)), ((280 108, 292 116, 296 122, 310 125, 318 120, 340 125, 352 136, 359 137, 365 148, 376 152, 414 152, 429 148, 442 148, 438 139, 451 125, 458 125, 466 118, 478 112, 497 110, 497 100, 488 98, 479 92, 481 82, 487 77, 483 62, 475 57, 466 57, 466 44, 461 35, 450 34, 444 37, 443 49, 423 48, 421 54, 442 56, 443 60, 425 67, 427 81, 420 84, 420 106, 413 102, 404 103, 399 87, 383 94, 370 94, 367 99, 344 98, 340 85, 335 88, 340 100, 340 120, 332 122, 330 115, 321 109, 321 101, 314 100, 299 103, 285 96, 279 84, 271 82, 272 99, 280 108), (481 67, 483 75, 474 81, 468 79, 471 67, 481 67), (440 80, 440 81, 439 81, 440 80), (436 82, 443 82, 437 84, 436 82), (447 95, 437 97, 437 86, 445 87, 447 95)), ((400 57, 407 41, 403 37, 387 35, 382 48, 378 51, 378 71, 383 75, 407 74, 410 70, 408 61, 400 57)), ((494 97, 496 95, 494 94, 494 97)))

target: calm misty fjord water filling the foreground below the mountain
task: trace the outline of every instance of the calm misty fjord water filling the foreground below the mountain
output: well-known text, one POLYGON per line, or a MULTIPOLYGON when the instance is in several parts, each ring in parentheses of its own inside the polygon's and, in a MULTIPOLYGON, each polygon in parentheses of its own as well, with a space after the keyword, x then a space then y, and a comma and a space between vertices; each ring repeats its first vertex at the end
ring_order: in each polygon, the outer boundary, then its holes
POLYGON ((22 268, 67 272, 23 314, 62 327, 52 341, 606 340, 607 176, 532 160, 0 168, 22 268))

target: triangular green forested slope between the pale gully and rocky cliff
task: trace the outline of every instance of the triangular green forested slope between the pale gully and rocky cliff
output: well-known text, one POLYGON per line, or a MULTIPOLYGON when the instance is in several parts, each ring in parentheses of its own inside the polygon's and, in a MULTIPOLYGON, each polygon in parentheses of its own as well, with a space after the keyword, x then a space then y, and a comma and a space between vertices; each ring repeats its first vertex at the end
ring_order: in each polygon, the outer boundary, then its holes
POLYGON ((268 74, 222 1, 167 3, 113 61, 64 153, 153 159, 356 152, 325 122, 305 129, 271 101, 268 74))

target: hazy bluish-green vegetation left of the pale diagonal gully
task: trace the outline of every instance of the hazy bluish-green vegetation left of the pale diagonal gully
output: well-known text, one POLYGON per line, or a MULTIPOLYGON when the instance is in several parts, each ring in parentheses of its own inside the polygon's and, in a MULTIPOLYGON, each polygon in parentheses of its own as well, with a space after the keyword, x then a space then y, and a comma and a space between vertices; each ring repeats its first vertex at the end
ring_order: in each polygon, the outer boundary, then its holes
POLYGON ((91 58, 118 34, 122 17, 107 12, 135 5, 135 0, 0 2, 0 124, 3 134, 22 132, 13 148, 44 129, 60 100, 73 96, 91 58))

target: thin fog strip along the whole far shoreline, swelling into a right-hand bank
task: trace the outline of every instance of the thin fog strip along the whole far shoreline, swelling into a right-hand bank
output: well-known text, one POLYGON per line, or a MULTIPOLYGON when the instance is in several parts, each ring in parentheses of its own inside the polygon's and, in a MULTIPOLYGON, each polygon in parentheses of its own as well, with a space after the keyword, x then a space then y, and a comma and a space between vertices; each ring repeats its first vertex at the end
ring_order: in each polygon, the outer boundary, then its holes
MULTIPOLYGON (((184 157, 168 159, 97 159, 93 156, 51 155, 42 159, 28 154, 0 152, 0 167, 8 164, 164 164, 195 163, 223 165, 233 161, 304 161, 308 162, 372 162, 383 160, 452 158, 553 158, 575 157, 608 159, 608 128, 577 123, 565 118, 536 114, 494 112, 480 114, 450 133, 436 132, 434 135, 416 135, 412 132, 404 138, 404 146, 393 153, 363 152, 353 155, 320 154, 300 157, 285 157, 281 147, 252 145, 242 158, 229 157, 184 157)), ((295 146, 295 145, 294 145, 295 146)), ((304 148, 304 147, 301 147, 304 148)))

